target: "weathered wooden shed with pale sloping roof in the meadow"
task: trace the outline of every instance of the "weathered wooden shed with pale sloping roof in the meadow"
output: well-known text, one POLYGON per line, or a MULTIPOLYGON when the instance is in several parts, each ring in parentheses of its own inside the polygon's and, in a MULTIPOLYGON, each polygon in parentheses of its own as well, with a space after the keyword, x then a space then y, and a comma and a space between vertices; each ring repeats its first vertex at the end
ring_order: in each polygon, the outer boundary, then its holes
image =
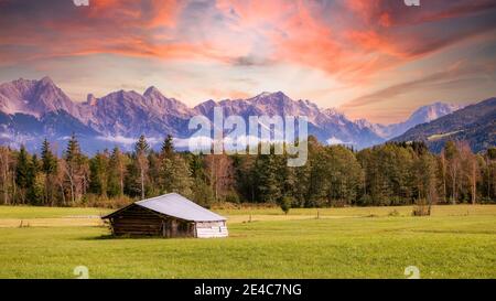
POLYGON ((101 218, 114 235, 227 237, 226 218, 177 193, 134 202, 101 218))

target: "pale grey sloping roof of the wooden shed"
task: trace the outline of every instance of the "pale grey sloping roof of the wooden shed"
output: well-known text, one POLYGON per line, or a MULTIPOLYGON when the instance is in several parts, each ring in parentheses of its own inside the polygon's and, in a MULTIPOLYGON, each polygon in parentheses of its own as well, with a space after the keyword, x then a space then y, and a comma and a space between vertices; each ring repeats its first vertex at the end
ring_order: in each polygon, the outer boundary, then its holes
MULTIPOLYGON (((226 217, 213 213, 177 193, 168 193, 157 197, 138 201, 133 204, 184 221, 215 222, 227 219, 226 217)), ((117 212, 104 216, 103 218, 108 218, 117 212)))

